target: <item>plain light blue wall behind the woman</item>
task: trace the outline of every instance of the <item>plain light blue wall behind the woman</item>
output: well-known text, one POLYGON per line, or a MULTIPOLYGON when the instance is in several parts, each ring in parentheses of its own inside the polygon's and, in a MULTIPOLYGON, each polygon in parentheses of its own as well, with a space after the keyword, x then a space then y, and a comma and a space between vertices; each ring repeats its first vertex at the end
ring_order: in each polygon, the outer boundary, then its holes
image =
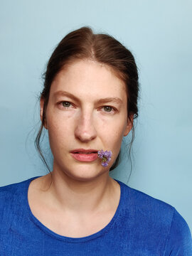
MULTIPOLYGON (((80 26, 132 50, 141 100, 129 186, 174 206, 192 229, 192 1, 10 1, 0 9, 0 186, 46 174, 33 140, 41 75, 56 44, 80 26)), ((124 183, 126 159, 112 171, 124 183)))

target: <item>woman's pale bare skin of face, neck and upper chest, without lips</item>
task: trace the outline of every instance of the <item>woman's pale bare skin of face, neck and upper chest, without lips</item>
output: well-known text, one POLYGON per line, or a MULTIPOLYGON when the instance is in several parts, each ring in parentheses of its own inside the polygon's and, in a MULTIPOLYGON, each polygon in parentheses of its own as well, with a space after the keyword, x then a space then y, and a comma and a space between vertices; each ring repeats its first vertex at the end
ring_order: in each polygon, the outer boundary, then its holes
MULTIPOLYGON (((41 98, 41 120, 43 104, 41 98)), ((119 204, 119 183, 109 170, 132 129, 124 82, 95 61, 71 63, 50 87, 44 127, 53 153, 52 183, 50 174, 30 183, 31 211, 59 235, 92 235, 110 223, 119 204), (73 149, 111 150, 112 160, 107 167, 99 158, 78 161, 70 154, 73 149)))

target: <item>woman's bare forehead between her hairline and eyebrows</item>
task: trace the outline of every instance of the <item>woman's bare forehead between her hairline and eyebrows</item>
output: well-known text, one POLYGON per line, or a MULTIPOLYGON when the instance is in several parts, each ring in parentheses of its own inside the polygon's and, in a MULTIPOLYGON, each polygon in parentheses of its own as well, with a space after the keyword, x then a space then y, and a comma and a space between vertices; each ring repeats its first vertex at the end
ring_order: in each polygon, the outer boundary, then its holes
POLYGON ((92 60, 77 60, 65 65, 55 76, 50 94, 58 90, 75 93, 78 97, 124 97, 125 83, 107 65, 92 60))

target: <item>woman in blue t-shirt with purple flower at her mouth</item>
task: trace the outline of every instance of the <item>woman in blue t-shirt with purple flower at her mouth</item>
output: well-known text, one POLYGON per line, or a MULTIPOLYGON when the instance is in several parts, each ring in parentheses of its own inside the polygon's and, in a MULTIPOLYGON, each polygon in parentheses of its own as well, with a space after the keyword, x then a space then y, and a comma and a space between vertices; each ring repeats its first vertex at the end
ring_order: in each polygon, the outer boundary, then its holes
MULTIPOLYGON (((55 48, 41 93, 53 170, 1 187, 0 255, 192 255, 176 209, 110 178, 137 117, 132 53, 87 27, 55 48)), ((44 159, 45 160, 45 159, 44 159)))

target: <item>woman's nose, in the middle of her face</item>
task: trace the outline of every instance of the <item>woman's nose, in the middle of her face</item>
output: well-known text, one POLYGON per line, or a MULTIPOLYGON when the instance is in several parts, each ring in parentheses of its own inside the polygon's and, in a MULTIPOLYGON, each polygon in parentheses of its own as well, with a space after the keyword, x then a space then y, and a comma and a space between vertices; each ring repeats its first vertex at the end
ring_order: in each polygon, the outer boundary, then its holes
POLYGON ((91 114, 82 113, 75 128, 75 137, 81 142, 90 142, 97 137, 91 114))

